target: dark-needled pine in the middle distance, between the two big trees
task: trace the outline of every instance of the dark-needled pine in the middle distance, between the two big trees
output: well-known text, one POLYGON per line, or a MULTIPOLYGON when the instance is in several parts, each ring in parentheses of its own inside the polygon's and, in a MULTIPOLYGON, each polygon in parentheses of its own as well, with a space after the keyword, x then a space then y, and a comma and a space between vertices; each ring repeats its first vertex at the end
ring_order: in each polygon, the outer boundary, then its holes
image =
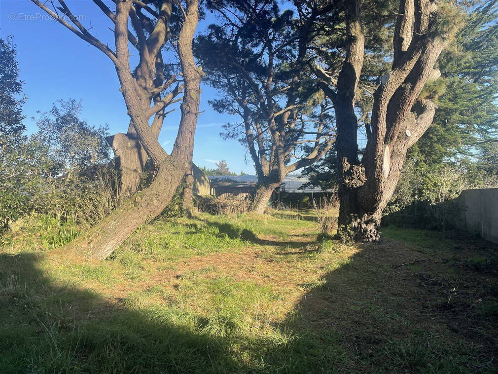
POLYGON ((262 213, 285 176, 319 160, 335 140, 327 100, 311 82, 309 44, 333 30, 317 26, 333 7, 313 3, 298 18, 275 1, 209 1, 208 8, 220 24, 199 38, 196 53, 222 95, 213 107, 242 119, 223 136, 248 147, 258 177, 251 208, 262 213))

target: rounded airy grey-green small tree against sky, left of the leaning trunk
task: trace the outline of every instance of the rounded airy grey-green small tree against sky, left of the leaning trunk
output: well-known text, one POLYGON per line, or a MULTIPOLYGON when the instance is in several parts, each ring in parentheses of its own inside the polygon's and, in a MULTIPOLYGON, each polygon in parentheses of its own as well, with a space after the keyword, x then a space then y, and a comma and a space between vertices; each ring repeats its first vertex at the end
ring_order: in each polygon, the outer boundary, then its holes
MULTIPOLYGON (((82 197, 93 194, 98 177, 107 172, 111 151, 107 127, 90 126, 80 116, 80 103, 60 100, 36 122, 39 130, 30 138, 39 150, 35 165, 42 185, 30 193, 36 211, 74 216, 82 197)), ((117 197, 116 186, 112 194, 117 197)))

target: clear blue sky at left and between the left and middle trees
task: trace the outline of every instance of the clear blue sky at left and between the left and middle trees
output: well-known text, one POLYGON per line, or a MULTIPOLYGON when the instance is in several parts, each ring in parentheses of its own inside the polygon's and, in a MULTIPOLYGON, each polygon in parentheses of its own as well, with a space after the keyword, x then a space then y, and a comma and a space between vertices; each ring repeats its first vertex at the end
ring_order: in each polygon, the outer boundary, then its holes
MULTIPOLYGON (((110 20, 91 0, 66 0, 73 14, 92 27, 90 32, 103 42, 114 46, 110 20)), ((198 32, 213 21, 202 21, 198 32)), ((101 51, 70 32, 63 25, 48 19, 45 13, 29 0, 0 0, 0 37, 14 36, 17 45, 20 78, 28 97, 23 107, 28 132, 36 131, 37 111, 48 111, 59 99, 82 101, 84 118, 89 124, 108 124, 110 133, 126 132, 129 118, 114 65, 101 51)), ((131 51, 131 49, 130 49, 131 51)), ((134 66, 132 66, 133 68, 134 66)), ((202 85, 201 107, 204 111, 197 122, 194 163, 215 168, 215 162, 225 159, 231 171, 254 174, 254 167, 246 149, 236 140, 223 140, 222 125, 238 120, 219 114, 208 104, 217 93, 202 85), (247 162, 246 162, 247 156, 247 162)), ((159 135, 167 152, 171 151, 180 111, 170 113, 159 135)))

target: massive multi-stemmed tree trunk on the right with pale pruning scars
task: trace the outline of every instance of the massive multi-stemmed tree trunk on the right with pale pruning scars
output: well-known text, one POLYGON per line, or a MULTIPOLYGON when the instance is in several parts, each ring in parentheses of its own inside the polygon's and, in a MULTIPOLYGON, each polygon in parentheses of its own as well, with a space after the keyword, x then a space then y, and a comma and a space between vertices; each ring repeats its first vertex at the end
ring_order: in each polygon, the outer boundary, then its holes
POLYGON ((349 225, 356 240, 375 241, 380 237, 382 211, 396 187, 406 153, 432 123, 434 97, 421 93, 428 82, 440 76, 435 64, 457 31, 460 11, 447 2, 399 1, 392 64, 373 91, 367 144, 360 160, 355 108, 366 35, 361 0, 347 1, 345 6, 344 62, 337 79, 329 73, 334 67, 318 68, 317 74, 336 114, 339 225, 349 225))

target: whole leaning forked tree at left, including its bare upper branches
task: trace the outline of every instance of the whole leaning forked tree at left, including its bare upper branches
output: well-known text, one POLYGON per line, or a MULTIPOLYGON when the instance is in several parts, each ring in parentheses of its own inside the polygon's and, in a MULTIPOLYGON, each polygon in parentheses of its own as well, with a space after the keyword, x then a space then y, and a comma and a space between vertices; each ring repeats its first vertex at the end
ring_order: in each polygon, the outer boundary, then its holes
POLYGON ((192 162, 199 115, 199 85, 203 76, 192 54, 192 41, 199 18, 198 2, 186 0, 184 7, 181 2, 173 3, 172 0, 155 1, 148 5, 148 1, 124 0, 117 1, 113 11, 101 0, 94 0, 114 23, 115 51, 93 36, 74 16, 65 1, 58 0, 58 10, 50 9, 39 0, 32 2, 81 39, 101 50, 114 63, 132 132, 136 133, 140 146, 156 167, 155 178, 149 187, 126 200, 114 213, 61 249, 63 252, 78 251, 95 258, 105 258, 146 219, 161 213, 192 162), (175 87, 166 94, 176 78, 165 76, 161 55, 161 49, 172 36, 170 19, 173 10, 179 14, 181 23, 177 52, 182 68, 184 95, 180 106, 182 116, 178 135, 173 151, 168 155, 157 141, 157 134, 162 126, 165 107, 179 90, 175 87), (58 11, 66 17, 59 16, 58 11), (144 12, 152 18, 145 16, 144 12), (129 23, 134 33, 128 29, 129 23), (138 50, 139 61, 134 70, 130 68, 129 45, 138 50), (149 125, 151 117, 154 120, 149 125))

